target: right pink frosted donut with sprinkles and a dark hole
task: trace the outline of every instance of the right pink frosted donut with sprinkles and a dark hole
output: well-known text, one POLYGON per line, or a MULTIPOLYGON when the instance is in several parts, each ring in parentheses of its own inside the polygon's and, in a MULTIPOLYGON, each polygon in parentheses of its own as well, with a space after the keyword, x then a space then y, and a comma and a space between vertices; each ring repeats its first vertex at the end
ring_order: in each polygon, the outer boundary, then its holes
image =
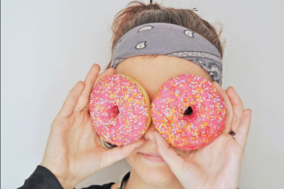
POLYGON ((178 75, 166 81, 151 104, 153 124, 172 146, 195 150, 207 146, 223 131, 226 107, 209 80, 178 75))

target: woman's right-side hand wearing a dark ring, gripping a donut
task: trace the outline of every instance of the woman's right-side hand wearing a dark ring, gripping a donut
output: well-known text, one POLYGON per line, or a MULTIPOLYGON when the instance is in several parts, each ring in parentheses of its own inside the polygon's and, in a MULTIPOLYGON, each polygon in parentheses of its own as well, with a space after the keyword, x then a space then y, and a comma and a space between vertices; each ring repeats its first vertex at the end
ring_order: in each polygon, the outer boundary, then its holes
POLYGON ((155 131, 160 156, 185 188, 239 188, 241 162, 251 124, 251 109, 244 110, 233 87, 224 91, 217 82, 212 84, 224 97, 227 117, 223 133, 211 144, 182 158, 155 131), (235 138, 229 134, 230 131, 236 133, 235 138))

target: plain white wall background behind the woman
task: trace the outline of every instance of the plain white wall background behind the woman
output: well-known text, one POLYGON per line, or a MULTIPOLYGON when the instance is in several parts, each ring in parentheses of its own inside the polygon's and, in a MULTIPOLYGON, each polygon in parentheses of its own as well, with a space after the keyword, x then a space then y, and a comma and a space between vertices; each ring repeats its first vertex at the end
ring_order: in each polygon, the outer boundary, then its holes
MULTIPOLYGON (((1 188, 40 164, 50 124, 93 63, 110 60, 111 23, 129 1, 1 1, 1 188)), ((148 1, 146 1, 148 3, 148 1)), ((283 1, 157 1, 197 13, 224 31, 222 87, 236 89, 252 121, 239 187, 283 188, 283 1)), ((119 182, 119 161, 77 185, 119 182)))

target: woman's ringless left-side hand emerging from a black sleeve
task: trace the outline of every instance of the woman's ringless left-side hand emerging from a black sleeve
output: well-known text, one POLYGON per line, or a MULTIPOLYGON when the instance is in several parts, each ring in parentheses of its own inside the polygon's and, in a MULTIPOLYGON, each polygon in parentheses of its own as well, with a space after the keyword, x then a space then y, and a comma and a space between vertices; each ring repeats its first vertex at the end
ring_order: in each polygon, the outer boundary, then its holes
POLYGON ((48 168, 63 188, 75 188, 89 175, 126 158, 143 143, 140 140, 112 149, 102 146, 90 119, 89 95, 102 77, 115 74, 115 70, 109 68, 98 76, 99 70, 99 65, 92 65, 84 82, 77 82, 50 127, 40 165, 48 168))

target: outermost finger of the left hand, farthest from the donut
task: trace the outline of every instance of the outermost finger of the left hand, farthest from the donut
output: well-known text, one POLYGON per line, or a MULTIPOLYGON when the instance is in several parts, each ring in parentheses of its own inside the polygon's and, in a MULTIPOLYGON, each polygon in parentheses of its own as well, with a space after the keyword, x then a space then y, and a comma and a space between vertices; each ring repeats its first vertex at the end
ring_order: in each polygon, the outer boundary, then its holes
POLYGON ((72 114, 83 89, 84 82, 77 82, 76 85, 72 88, 72 90, 70 90, 67 98, 65 99, 65 102, 63 103, 62 108, 58 113, 58 117, 69 117, 70 114, 72 114))

